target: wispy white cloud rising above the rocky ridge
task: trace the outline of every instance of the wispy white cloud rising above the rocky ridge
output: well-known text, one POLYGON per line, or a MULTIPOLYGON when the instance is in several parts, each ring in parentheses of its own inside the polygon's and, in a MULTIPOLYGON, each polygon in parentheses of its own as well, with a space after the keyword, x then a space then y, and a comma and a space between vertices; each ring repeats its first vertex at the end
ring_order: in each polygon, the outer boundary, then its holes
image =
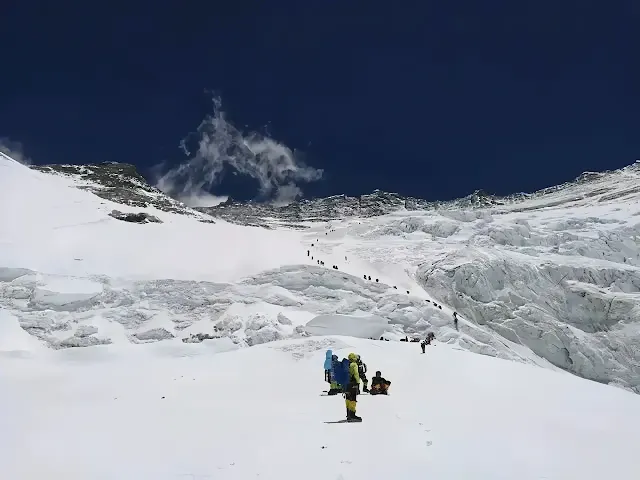
POLYGON ((213 197, 210 190, 231 170, 258 182, 258 198, 286 204, 302 195, 301 182, 322 177, 322 170, 306 165, 285 145, 238 130, 226 119, 219 97, 213 107, 213 114, 181 142, 188 160, 159 175, 159 189, 191 206, 220 203, 224 197, 213 197))

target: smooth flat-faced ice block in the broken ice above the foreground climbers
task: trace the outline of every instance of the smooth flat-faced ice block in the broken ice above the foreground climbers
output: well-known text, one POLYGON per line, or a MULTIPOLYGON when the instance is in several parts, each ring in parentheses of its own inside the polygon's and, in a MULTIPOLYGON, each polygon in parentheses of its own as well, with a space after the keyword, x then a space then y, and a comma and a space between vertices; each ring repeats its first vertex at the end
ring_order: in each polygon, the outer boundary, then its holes
POLYGON ((376 315, 319 315, 304 326, 312 335, 344 335, 357 338, 380 338, 389 330, 389 321, 376 315))

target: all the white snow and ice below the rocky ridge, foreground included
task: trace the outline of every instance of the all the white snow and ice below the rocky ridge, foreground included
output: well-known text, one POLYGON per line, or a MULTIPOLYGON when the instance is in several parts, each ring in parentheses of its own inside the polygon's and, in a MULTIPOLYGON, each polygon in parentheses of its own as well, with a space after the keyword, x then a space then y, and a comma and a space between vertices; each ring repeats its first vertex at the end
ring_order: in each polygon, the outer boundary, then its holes
POLYGON ((637 478, 639 182, 267 230, 0 155, 0 476, 637 478), (393 382, 361 425, 326 348, 393 382))

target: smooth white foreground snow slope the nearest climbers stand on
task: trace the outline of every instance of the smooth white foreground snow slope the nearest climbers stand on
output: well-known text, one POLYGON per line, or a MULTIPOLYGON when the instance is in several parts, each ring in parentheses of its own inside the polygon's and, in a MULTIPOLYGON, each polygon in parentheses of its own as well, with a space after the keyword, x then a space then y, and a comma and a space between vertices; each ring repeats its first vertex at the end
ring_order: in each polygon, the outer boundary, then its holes
POLYGON ((11 479, 637 479, 640 397, 437 343, 349 337, 219 353, 216 340, 0 359, 11 479), (325 350, 391 380, 361 424, 326 389, 325 350))

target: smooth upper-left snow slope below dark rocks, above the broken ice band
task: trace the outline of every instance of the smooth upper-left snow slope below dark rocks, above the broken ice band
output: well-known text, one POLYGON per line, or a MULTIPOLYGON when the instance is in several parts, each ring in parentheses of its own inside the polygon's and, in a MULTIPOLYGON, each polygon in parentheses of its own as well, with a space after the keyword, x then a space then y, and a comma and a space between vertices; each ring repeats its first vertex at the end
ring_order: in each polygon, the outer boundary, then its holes
POLYGON ((304 260, 294 232, 212 225, 153 207, 120 205, 76 188, 70 178, 6 157, 0 158, 0 205, 3 267, 217 282, 304 260), (164 223, 119 221, 108 215, 114 209, 144 211, 164 223))

